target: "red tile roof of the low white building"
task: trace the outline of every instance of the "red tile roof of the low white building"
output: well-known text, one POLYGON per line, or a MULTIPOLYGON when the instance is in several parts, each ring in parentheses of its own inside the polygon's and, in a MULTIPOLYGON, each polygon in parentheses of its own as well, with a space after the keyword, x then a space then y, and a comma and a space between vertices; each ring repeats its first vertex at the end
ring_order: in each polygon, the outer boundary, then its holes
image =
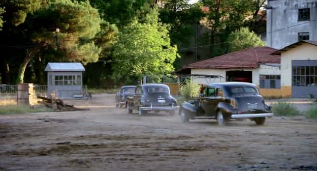
POLYGON ((280 55, 271 54, 276 50, 270 47, 250 47, 185 65, 182 68, 257 68, 261 63, 280 64, 280 55))

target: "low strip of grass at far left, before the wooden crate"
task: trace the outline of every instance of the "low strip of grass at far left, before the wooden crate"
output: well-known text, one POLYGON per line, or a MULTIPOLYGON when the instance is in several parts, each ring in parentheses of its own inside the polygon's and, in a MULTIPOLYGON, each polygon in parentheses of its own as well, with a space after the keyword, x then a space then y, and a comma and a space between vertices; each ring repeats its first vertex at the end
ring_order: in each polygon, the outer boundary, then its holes
POLYGON ((11 115, 20 113, 48 112, 54 111, 52 108, 45 106, 30 107, 28 105, 6 105, 0 106, 0 115, 11 115))

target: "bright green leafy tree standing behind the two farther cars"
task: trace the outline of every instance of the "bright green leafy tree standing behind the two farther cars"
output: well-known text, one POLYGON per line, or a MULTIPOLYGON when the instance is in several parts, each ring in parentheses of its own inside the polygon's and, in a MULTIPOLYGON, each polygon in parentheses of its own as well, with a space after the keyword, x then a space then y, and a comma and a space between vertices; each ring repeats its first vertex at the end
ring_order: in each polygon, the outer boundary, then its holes
POLYGON ((150 12, 144 23, 134 19, 123 27, 112 53, 113 78, 140 78, 143 75, 169 74, 178 57, 171 46, 168 25, 158 22, 157 10, 150 12))

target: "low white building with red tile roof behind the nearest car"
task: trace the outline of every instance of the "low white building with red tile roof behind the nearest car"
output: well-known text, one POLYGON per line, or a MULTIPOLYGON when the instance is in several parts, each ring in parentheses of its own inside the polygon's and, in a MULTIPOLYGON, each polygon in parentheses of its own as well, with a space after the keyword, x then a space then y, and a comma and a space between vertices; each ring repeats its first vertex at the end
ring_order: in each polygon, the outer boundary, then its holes
MULTIPOLYGON (((280 55, 270 47, 250 47, 208 60, 183 66, 179 71, 187 74, 219 75, 212 82, 244 81, 256 84, 266 97, 280 97, 280 55)), ((193 82, 208 84, 208 79, 193 77, 193 82)))

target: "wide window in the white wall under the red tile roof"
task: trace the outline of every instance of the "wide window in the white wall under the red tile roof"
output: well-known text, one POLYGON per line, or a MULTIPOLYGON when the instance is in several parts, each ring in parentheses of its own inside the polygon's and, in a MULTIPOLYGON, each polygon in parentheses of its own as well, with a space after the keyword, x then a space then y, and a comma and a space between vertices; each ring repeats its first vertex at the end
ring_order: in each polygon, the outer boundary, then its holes
POLYGON ((280 75, 260 75, 261 89, 280 89, 280 75))

